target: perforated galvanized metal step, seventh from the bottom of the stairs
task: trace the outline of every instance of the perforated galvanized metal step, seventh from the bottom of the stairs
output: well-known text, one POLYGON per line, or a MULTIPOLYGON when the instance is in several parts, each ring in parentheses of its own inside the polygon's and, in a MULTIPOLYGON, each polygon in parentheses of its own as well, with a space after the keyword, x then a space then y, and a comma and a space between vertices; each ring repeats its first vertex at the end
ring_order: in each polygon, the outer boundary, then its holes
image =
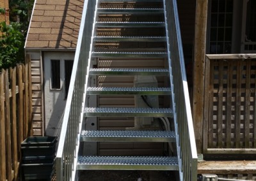
POLYGON ((166 41, 165 36, 95 36, 94 41, 166 41))

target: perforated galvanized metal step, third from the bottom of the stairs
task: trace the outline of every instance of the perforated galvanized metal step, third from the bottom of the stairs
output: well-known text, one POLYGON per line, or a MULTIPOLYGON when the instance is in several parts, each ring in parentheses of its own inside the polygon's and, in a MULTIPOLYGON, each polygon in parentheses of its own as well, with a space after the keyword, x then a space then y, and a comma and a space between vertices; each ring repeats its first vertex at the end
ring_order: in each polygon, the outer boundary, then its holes
POLYGON ((84 108, 86 117, 173 117, 171 108, 84 108))

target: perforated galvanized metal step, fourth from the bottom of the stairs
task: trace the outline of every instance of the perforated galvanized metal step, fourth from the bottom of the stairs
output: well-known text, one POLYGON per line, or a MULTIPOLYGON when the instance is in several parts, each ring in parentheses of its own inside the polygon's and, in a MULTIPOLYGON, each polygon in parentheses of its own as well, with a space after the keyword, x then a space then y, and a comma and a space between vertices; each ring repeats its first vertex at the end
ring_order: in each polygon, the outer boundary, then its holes
POLYGON ((90 95, 170 95, 171 89, 168 87, 88 87, 90 95))

